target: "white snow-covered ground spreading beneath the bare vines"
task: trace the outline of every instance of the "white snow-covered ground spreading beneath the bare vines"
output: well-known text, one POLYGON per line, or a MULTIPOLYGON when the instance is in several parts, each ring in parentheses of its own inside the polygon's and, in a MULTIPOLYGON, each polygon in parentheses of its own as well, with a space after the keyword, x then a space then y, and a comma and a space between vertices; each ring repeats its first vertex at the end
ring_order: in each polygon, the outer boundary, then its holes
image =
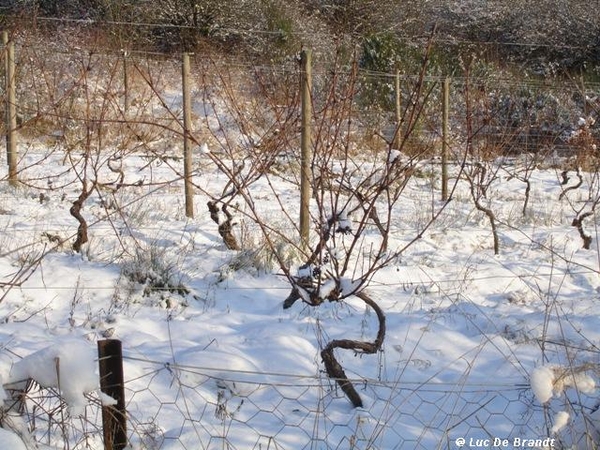
MULTIPOLYGON (((195 182, 220 192, 226 179, 205 156, 195 155, 195 182)), ((32 186, 0 187, 0 376, 6 407, 14 383, 38 383, 23 417, 12 408, 3 422, 30 447, 102 448, 93 361, 106 337, 123 343, 134 449, 598 442, 597 221, 586 221, 594 240, 584 250, 571 221, 586 185, 559 200, 555 169, 534 172, 526 216, 523 183, 505 177, 489 189, 500 255, 460 184, 424 236, 378 272, 368 291, 386 314, 383 351, 338 353, 365 401, 354 409, 323 373, 320 350, 336 338, 372 340, 373 313, 353 299, 284 310, 285 278, 225 248, 207 197, 198 193, 196 218, 185 217, 173 171, 181 161, 127 157, 130 186, 85 202, 90 240, 81 254, 70 247, 77 223, 69 214, 81 185, 64 183, 73 176, 63 173, 63 155, 33 147, 20 164, 32 186), (62 186, 41 191, 37 179, 62 186), (66 407, 47 392, 61 392, 66 407)), ((412 178, 397 205, 390 248, 411 240, 440 205, 431 170, 412 178)), ((260 209, 276 223, 279 203, 261 182, 253 187, 256 198, 263 188, 260 209)), ((281 179, 276 190, 285 204, 298 202, 295 185, 281 179)), ((237 222, 241 242, 255 248, 256 225, 237 222)), ((1 448, 19 448, 14 433, 0 431, 1 448)))

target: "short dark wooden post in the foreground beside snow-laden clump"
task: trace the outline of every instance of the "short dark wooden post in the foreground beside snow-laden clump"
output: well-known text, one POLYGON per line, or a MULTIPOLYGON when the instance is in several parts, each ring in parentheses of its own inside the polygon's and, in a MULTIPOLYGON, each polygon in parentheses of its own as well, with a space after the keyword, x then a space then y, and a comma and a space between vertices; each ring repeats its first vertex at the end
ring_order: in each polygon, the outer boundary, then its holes
POLYGON ((121 341, 98 341, 98 365, 101 391, 117 401, 116 405, 102 407, 104 450, 123 450, 127 446, 127 413, 121 341))

